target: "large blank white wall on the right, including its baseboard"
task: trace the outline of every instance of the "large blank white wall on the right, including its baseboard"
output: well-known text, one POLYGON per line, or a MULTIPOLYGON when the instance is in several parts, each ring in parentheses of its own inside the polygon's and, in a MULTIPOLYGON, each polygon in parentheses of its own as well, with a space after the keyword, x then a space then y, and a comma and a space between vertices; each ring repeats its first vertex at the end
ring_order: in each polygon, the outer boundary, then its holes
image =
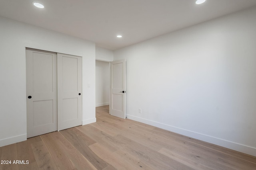
POLYGON ((114 51, 128 118, 256 156, 255 30, 251 8, 114 51))

